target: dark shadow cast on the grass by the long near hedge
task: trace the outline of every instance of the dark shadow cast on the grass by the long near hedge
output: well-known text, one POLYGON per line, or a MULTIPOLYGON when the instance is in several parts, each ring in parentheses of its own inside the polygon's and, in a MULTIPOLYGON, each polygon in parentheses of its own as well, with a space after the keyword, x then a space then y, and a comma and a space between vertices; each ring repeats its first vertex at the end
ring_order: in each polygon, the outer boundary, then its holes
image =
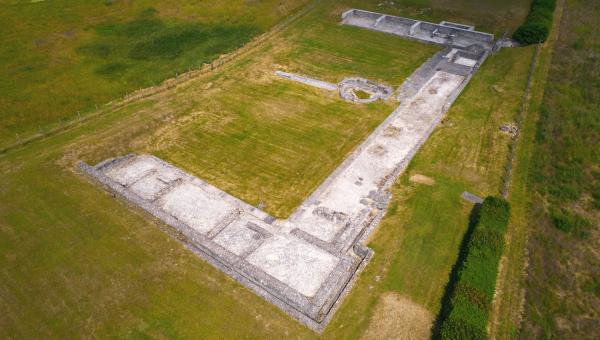
POLYGON ((454 289, 456 287, 456 282, 458 281, 458 270, 461 267, 462 263, 465 261, 465 258, 467 257, 467 253, 468 253, 467 245, 469 244, 469 241, 471 240, 471 235, 473 234, 475 225, 477 225, 477 221, 479 220, 479 210, 480 209, 481 209, 481 204, 476 203, 473 206, 471 213, 469 214, 469 227, 467 228, 467 231, 465 232, 465 237, 463 238, 462 242, 460 243, 460 250, 458 253, 458 258, 456 259, 454 266, 452 266, 452 271, 450 272, 448 284, 446 285, 446 288, 444 288, 444 296, 442 297, 442 306, 440 307, 438 316, 435 319, 432 329, 431 329, 432 339, 440 339, 441 338, 440 337, 440 327, 441 327, 444 319, 446 319, 446 317, 448 317, 448 314, 450 313, 450 310, 451 310, 450 298, 452 297, 452 292, 454 291, 454 289))

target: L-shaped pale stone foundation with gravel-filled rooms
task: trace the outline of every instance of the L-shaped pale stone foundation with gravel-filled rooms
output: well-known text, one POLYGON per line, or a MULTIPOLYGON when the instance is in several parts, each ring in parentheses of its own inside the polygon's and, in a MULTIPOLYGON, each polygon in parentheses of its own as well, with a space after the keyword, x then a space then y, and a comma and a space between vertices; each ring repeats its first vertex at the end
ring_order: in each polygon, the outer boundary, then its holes
POLYGON ((364 244, 385 213, 387 190, 486 57, 456 46, 434 55, 400 88, 398 108, 286 220, 151 155, 79 169, 320 332, 373 255, 364 244), (457 55, 472 62, 457 63, 457 55))

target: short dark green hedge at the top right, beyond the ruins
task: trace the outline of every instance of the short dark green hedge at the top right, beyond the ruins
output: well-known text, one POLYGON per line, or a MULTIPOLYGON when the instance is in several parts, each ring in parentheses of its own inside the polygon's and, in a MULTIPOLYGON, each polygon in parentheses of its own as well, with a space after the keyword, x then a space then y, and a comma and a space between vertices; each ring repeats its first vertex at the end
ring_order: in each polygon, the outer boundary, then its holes
POLYGON ((525 22, 515 31, 513 39, 522 44, 546 41, 552 27, 556 0, 533 0, 525 22))

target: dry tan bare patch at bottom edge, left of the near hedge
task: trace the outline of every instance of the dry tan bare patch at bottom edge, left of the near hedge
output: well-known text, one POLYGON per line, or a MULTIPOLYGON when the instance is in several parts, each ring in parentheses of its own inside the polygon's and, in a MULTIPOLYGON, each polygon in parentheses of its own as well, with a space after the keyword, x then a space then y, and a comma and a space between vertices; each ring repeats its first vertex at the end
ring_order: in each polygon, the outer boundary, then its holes
POLYGON ((398 293, 381 295, 363 339, 429 339, 433 314, 398 293))

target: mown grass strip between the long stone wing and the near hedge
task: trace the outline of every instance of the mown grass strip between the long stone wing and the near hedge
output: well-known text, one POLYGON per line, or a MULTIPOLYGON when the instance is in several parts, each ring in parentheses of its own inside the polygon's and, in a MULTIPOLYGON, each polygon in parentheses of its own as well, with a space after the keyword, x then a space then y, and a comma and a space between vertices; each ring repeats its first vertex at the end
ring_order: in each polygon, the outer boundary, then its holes
POLYGON ((532 52, 502 50, 486 61, 396 184, 390 211, 370 244, 389 256, 382 289, 409 296, 433 315, 473 207, 460 194, 498 194, 508 145, 498 126, 516 114, 532 52), (493 99, 477 100, 493 93, 493 99), (435 184, 412 183, 414 174, 435 184))

